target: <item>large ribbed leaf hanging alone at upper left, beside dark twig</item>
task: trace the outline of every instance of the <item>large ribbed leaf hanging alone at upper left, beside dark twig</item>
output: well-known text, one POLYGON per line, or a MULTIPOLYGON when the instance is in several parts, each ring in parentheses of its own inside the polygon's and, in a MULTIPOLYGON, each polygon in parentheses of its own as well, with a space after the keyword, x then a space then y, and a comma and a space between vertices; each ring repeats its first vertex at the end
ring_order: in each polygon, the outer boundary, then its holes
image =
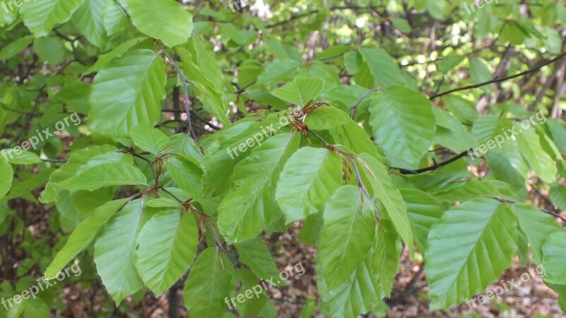
POLYGON ((166 73, 149 49, 129 51, 96 75, 91 95, 91 129, 105 137, 129 136, 138 124, 153 125, 161 114, 166 73))

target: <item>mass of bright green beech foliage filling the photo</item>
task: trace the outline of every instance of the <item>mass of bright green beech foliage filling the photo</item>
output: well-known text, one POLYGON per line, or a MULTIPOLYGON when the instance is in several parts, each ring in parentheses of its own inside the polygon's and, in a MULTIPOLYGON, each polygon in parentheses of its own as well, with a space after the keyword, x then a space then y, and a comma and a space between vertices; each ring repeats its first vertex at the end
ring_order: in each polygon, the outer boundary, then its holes
MULTIPOLYGON (((492 78, 486 59, 493 55, 483 56, 462 30, 469 22, 478 42, 550 59, 562 47, 555 25, 566 20, 564 4, 534 1, 526 17, 526 5, 503 1, 470 15, 448 1, 325 2, 299 16, 292 9, 304 2, 276 3, 279 16, 289 18, 271 24, 173 0, 37 0, 1 12, 5 146, 70 112, 84 120, 64 132, 71 146, 42 139, 37 149, 0 158, 0 233, 13 230, 6 224, 25 224, 13 200, 36 202, 32 191, 45 187, 39 201, 55 207, 50 227, 71 232, 55 256, 27 247, 43 260, 45 278, 93 254, 96 273, 120 304, 146 288, 161 295, 190 270, 184 299, 191 317, 221 317, 225 298, 277 277, 262 232, 296 221, 304 222, 301 241, 316 245, 320 310, 332 317, 379 309, 391 295, 403 246, 424 257, 432 310, 482 293, 514 255, 526 264, 529 247, 548 273, 545 283, 564 295, 566 232, 522 202, 531 199, 529 190, 549 190, 566 208, 566 128, 550 118, 548 98, 511 82, 482 85, 492 78), (308 35, 329 21, 374 32, 366 23, 372 16, 357 11, 387 13, 381 40, 358 43, 352 28, 335 28, 331 45, 305 60, 300 49, 308 50, 308 35), (422 20, 449 17, 451 37, 442 45, 458 43, 431 54, 439 59, 432 71, 446 80, 422 76, 427 64, 400 68, 396 59, 412 63, 416 50, 387 30, 418 37, 422 20), (281 26, 301 18, 313 22, 297 25, 297 42, 282 40, 294 33, 281 26), (461 73, 480 90, 438 93, 461 86, 461 73), (495 98, 478 112, 475 99, 502 90, 507 100, 495 98), (536 111, 548 120, 521 127, 536 111), (198 134, 195 118, 207 123, 198 134), (8 138, 7 124, 21 133, 8 138), (277 129, 266 132, 268 126, 277 129), (465 158, 468 148, 513 127, 521 134, 501 148, 465 158), (254 146, 241 146, 254 137, 254 146), (437 164, 439 153, 461 155, 437 164), (65 160, 50 159, 63 154, 65 160)), ((511 74, 529 67, 511 64, 511 74)), ((7 282, 2 290, 15 293, 7 282)), ((11 317, 48 310, 48 300, 34 302, 12 308, 11 317)), ((560 302, 566 308, 565 298, 560 302)), ((270 317, 273 308, 264 291, 236 310, 270 317)))

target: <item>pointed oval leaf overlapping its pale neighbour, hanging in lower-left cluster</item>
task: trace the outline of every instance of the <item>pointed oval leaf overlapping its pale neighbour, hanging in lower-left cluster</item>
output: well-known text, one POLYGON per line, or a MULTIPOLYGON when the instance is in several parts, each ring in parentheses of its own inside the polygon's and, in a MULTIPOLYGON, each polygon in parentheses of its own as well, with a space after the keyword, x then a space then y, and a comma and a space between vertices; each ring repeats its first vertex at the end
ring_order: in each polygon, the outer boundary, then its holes
POLYGON ((199 233, 190 212, 157 213, 137 237, 137 272, 156 296, 170 288, 189 269, 197 254, 199 233))

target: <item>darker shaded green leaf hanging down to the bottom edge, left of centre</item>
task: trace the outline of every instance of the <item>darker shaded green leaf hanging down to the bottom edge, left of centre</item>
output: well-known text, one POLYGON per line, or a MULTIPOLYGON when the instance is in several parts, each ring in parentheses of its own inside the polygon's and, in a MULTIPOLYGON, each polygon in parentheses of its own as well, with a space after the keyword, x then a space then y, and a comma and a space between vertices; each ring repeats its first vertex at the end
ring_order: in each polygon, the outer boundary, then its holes
POLYGON ((233 273, 231 261, 216 248, 209 247, 200 253, 183 292, 190 317, 217 318, 228 310, 224 298, 230 295, 233 273))

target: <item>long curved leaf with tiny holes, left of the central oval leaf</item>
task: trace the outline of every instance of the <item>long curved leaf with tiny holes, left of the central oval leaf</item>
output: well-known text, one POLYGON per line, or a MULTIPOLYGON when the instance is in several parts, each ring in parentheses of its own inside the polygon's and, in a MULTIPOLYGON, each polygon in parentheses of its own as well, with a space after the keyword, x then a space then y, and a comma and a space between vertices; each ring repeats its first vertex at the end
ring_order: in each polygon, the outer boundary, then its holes
POLYGON ((277 218, 275 182, 299 148, 299 134, 273 136, 234 168, 231 188, 218 209, 218 225, 231 242, 249 240, 277 218))

